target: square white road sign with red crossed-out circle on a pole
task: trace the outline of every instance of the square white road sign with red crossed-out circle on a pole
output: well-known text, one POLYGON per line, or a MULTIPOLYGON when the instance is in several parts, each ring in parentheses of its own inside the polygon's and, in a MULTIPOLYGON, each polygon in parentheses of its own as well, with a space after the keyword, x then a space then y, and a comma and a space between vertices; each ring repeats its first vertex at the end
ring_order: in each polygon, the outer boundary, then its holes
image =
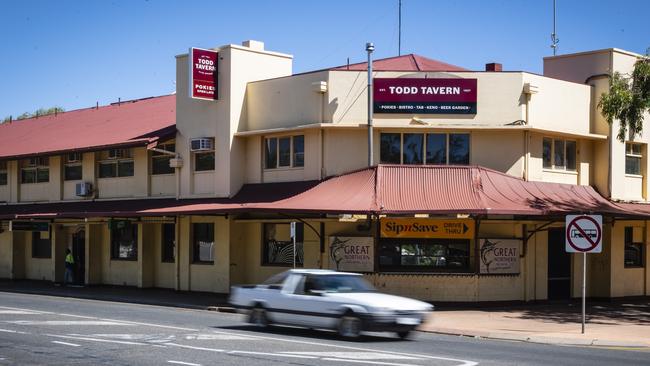
POLYGON ((601 215, 566 216, 567 253, 600 253, 603 250, 601 215))

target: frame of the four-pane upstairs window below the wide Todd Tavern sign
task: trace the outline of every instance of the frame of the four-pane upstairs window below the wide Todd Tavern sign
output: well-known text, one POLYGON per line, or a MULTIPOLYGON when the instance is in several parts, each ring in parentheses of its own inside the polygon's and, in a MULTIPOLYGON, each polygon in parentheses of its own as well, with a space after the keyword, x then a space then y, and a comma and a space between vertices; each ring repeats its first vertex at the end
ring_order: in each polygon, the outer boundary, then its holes
MULTIPOLYGON (((390 153, 390 152, 387 152, 390 153)), ((380 132, 379 133, 379 161, 381 164, 398 164, 398 165, 462 165, 468 166, 472 161, 472 134, 469 132, 380 132), (388 159, 382 158, 382 149, 383 141, 382 136, 388 135, 399 135, 399 152, 396 155, 399 156, 399 163, 389 161, 388 159), (404 135, 421 135, 422 136, 422 151, 421 151, 421 163, 406 163, 404 160, 404 135), (467 136, 467 163, 452 163, 451 162, 451 136, 452 135, 464 135, 467 136), (429 148, 429 136, 444 136, 445 150, 444 150, 444 162, 430 162, 428 153, 429 148)))

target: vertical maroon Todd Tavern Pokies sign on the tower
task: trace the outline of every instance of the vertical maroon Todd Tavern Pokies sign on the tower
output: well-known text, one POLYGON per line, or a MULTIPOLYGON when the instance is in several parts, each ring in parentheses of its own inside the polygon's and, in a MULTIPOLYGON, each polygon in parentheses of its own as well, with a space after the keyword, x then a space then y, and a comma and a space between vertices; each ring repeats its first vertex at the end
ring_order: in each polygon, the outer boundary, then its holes
POLYGON ((201 48, 190 49, 190 97, 217 100, 219 53, 201 48))

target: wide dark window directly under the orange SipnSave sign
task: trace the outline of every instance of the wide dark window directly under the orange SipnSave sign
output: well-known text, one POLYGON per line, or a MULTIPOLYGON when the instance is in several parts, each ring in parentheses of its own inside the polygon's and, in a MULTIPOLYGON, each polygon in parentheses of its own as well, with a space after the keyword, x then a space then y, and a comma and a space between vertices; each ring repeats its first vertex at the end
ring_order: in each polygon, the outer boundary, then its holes
POLYGON ((379 267, 383 271, 469 271, 469 240, 382 239, 379 267))

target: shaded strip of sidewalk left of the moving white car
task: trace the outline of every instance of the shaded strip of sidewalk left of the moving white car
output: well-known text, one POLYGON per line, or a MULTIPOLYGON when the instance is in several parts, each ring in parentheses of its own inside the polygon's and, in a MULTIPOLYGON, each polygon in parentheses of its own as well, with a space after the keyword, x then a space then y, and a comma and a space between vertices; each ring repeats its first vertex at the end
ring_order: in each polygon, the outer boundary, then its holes
POLYGON ((64 287, 59 284, 53 284, 50 281, 0 280, 0 296, 2 296, 3 292, 73 297, 78 299, 93 299, 203 310, 212 310, 216 307, 228 306, 228 298, 226 294, 107 285, 64 287))

